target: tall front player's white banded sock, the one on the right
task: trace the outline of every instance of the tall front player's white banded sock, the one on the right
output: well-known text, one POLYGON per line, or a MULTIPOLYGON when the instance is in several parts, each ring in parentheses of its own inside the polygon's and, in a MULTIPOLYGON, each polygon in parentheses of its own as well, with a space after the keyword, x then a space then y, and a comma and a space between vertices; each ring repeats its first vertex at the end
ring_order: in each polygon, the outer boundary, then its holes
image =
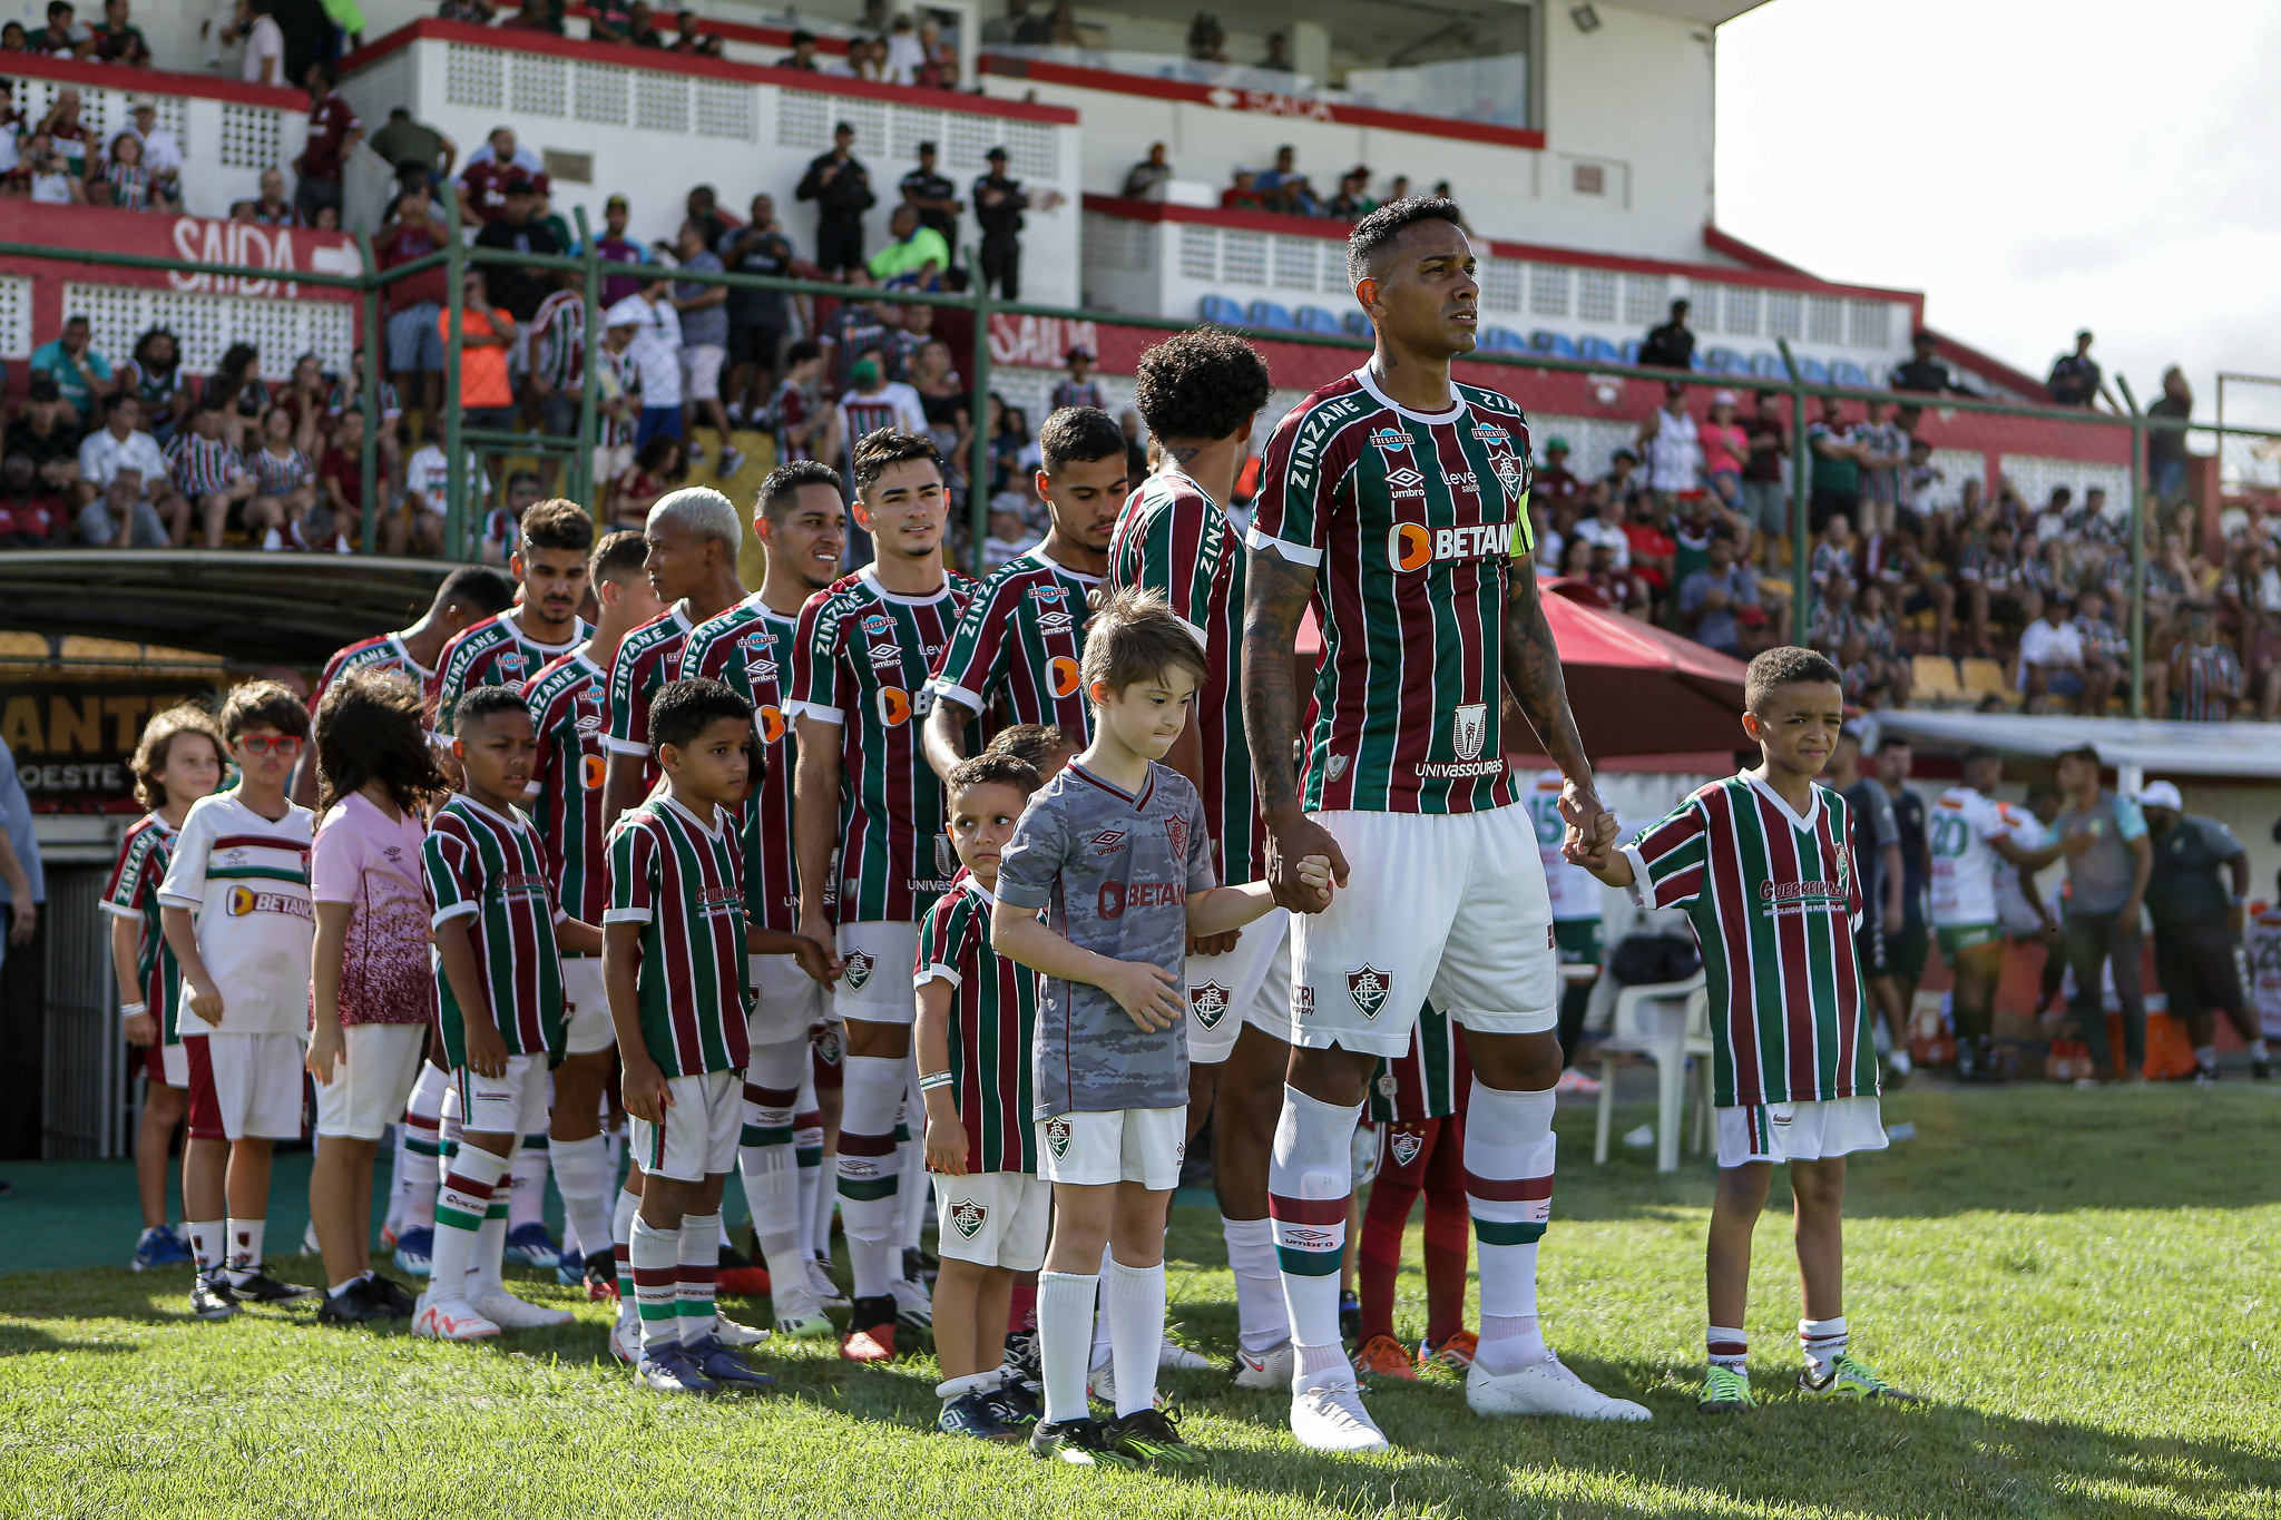
POLYGON ((1551 1351, 1537 1331, 1537 1240, 1551 1219, 1551 1092, 1505 1092, 1474 1078, 1464 1114, 1464 1203, 1480 1251, 1480 1365, 1517 1372, 1551 1351))

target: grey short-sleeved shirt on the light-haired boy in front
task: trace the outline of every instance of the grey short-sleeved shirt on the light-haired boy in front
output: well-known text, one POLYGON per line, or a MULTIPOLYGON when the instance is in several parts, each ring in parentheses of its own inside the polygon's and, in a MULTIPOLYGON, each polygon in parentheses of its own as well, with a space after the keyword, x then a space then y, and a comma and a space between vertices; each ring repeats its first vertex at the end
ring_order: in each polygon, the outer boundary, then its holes
MULTIPOLYGON (((1150 763, 1140 793, 1063 766, 1029 800, 999 859, 997 898, 1045 909, 1047 925, 1111 959, 1182 978, 1188 893, 1218 886, 1204 802, 1184 775, 1150 763)), ((1188 1025, 1143 1030, 1090 982, 1040 978, 1031 1046, 1033 1119, 1179 1108, 1188 1101, 1188 1025)))

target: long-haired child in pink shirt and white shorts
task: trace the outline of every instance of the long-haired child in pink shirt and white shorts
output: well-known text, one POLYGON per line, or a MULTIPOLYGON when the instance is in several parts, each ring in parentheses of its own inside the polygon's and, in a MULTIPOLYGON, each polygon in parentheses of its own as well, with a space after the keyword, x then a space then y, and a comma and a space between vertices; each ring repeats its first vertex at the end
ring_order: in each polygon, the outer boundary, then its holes
POLYGON ((324 1251, 333 1324, 401 1319, 413 1297, 372 1272, 372 1158, 404 1114, 436 1007, 422 807, 445 791, 420 688, 358 670, 317 706, 324 820, 310 850, 317 950, 308 1071, 317 1078, 317 1162, 308 1215, 324 1251))

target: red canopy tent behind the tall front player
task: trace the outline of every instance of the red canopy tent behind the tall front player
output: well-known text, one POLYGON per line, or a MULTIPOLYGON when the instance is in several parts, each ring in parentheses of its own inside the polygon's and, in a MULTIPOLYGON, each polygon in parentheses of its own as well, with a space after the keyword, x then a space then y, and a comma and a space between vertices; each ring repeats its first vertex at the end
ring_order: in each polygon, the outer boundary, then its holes
MULTIPOLYGON (((1542 581, 1544 620, 1567 672, 1569 709, 1594 761, 1635 754, 1711 754, 1718 770, 1743 741, 1743 661, 1583 602, 1581 581, 1542 581)), ((1585 593, 1590 595, 1590 593, 1585 593)), ((1316 661, 1314 611, 1298 654, 1316 661)), ((1515 720, 1508 738, 1528 745, 1515 720)))

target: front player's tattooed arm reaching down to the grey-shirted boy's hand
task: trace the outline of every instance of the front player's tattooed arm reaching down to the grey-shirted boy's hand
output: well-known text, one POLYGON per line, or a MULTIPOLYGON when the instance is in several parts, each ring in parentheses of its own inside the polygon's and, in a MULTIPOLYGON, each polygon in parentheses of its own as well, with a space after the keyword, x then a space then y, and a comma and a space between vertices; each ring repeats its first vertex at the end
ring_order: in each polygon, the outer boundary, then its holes
POLYGON ((1314 565, 1293 565, 1275 549, 1250 551, 1243 597, 1243 736, 1252 745, 1252 779, 1268 825, 1268 886, 1298 914, 1316 914, 1325 898, 1298 875, 1300 859, 1330 857, 1346 886, 1346 852, 1298 800, 1291 752, 1298 743, 1298 668, 1291 649, 1298 620, 1314 595, 1314 565))

